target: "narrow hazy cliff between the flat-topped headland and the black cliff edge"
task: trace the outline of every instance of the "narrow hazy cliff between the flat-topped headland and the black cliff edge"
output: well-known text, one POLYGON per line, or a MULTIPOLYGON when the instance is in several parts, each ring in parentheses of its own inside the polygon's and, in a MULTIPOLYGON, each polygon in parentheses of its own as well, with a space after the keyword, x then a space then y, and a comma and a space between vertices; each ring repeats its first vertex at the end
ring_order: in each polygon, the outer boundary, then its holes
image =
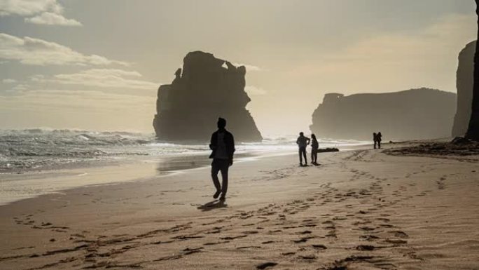
POLYGON ((464 136, 471 118, 473 97, 475 41, 468 43, 459 53, 457 66, 457 112, 452 127, 452 137, 464 136))

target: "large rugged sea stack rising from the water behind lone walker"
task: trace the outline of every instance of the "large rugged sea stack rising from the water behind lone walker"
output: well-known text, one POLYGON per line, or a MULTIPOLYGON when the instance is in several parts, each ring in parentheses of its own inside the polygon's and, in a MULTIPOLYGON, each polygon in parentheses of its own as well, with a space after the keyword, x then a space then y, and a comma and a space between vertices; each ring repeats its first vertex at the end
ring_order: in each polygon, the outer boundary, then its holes
POLYGON ((160 140, 205 142, 216 130, 218 117, 228 121, 239 142, 258 142, 263 138, 251 114, 244 91, 246 69, 196 51, 183 59, 169 85, 158 89, 157 114, 153 119, 160 140))

